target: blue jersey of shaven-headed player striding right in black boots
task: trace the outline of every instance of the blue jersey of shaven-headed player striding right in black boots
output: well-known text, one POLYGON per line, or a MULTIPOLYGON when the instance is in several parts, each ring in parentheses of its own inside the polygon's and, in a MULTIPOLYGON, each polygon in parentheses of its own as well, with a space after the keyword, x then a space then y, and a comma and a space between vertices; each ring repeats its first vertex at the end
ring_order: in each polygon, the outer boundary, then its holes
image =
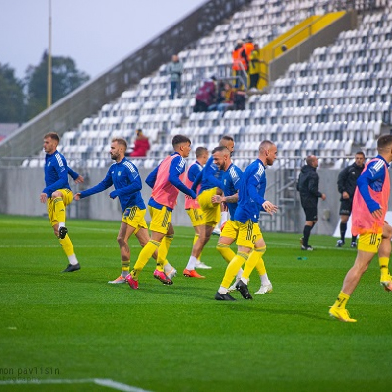
POLYGON ((240 180, 235 221, 245 223, 249 219, 253 222, 259 220, 260 211, 265 211, 263 203, 266 201, 266 187, 266 168, 260 159, 256 159, 245 169, 240 180))

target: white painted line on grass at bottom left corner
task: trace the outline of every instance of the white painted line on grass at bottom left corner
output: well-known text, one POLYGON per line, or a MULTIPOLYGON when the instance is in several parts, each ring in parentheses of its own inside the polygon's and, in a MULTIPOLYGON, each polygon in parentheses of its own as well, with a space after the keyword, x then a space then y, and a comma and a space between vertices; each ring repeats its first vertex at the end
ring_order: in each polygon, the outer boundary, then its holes
POLYGON ((113 381, 110 379, 104 378, 86 378, 81 380, 38 380, 38 379, 25 379, 25 378, 16 378, 14 380, 0 381, 1 385, 20 385, 20 384, 96 384, 101 385, 102 387, 108 387, 114 389, 116 391, 124 391, 124 392, 151 392, 146 389, 132 387, 130 385, 126 385, 123 383, 119 383, 117 381, 113 381))

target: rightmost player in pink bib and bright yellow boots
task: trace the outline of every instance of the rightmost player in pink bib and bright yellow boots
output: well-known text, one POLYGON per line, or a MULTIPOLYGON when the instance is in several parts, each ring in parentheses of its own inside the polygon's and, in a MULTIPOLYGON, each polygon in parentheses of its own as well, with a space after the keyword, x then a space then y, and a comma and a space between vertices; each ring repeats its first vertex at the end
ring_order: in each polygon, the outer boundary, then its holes
POLYGON ((392 227, 385 221, 390 196, 388 167, 392 161, 392 135, 380 136, 377 150, 378 155, 365 164, 364 171, 357 180, 352 203, 351 232, 353 235, 359 234, 357 257, 344 278, 338 299, 329 310, 330 316, 341 321, 357 321, 351 319, 345 307, 377 252, 381 270, 380 283, 386 291, 392 291, 388 268, 392 227))

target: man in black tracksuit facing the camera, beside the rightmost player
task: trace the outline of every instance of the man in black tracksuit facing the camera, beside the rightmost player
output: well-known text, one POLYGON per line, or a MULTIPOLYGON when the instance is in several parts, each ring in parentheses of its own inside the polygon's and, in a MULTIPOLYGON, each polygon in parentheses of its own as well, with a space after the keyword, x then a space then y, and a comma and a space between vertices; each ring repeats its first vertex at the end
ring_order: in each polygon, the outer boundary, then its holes
MULTIPOLYGON (((362 151, 358 151, 355 154, 355 162, 347 166, 339 173, 338 177, 338 191, 342 195, 340 198, 340 236, 341 239, 336 243, 337 248, 341 248, 344 245, 344 238, 347 230, 348 217, 351 214, 352 198, 354 196, 355 188, 357 186, 357 178, 364 170, 365 154, 362 151)), ((356 237, 351 238, 351 247, 357 246, 356 237)))

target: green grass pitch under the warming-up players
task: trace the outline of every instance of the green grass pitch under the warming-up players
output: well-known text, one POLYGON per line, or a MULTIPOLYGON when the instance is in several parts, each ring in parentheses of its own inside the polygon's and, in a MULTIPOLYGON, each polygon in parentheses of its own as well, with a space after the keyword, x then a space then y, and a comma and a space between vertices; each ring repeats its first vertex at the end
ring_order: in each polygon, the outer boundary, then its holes
MULTIPOLYGON (((168 255, 174 284, 153 279, 150 261, 131 290, 107 283, 120 270, 119 222, 67 227, 82 266, 74 273, 60 272, 67 260, 46 218, 0 216, 0 392, 110 391, 1 384, 29 371, 38 380, 111 379, 154 392, 390 388, 392 293, 379 285, 375 259, 348 304, 358 322, 330 319, 356 254, 336 249, 332 237, 312 236, 316 250, 304 252, 299 235, 265 233, 273 292, 222 303, 214 300, 226 267, 216 237, 202 255, 213 267, 200 271, 206 279, 182 276, 193 229, 177 227, 168 255)), ((140 247, 135 238, 130 245, 133 266, 140 247)), ((250 291, 259 285, 253 272, 250 291)))

